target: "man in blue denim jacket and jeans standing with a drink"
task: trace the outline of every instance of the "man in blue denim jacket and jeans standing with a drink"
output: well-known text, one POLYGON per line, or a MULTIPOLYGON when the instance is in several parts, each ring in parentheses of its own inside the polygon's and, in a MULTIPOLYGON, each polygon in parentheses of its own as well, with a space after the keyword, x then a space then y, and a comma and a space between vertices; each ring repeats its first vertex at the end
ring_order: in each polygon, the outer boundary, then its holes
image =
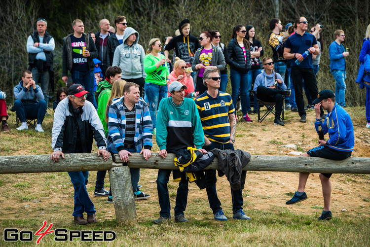
POLYGON ((344 57, 348 56, 348 51, 345 51, 342 42, 345 35, 343 30, 334 32, 335 40, 329 46, 330 56, 330 71, 335 79, 335 100, 339 106, 345 107, 345 92, 346 92, 346 63, 344 57))

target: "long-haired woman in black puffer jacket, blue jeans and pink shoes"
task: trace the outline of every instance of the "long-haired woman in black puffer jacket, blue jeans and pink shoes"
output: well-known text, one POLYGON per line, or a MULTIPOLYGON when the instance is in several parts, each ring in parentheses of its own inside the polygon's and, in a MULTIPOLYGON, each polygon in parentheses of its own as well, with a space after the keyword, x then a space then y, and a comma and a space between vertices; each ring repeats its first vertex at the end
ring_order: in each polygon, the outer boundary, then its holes
POLYGON ((236 25, 232 32, 232 39, 227 45, 227 53, 230 65, 231 98, 236 106, 240 91, 240 103, 243 118, 252 122, 248 116, 248 71, 251 69, 250 44, 245 39, 247 31, 243 25, 236 25))

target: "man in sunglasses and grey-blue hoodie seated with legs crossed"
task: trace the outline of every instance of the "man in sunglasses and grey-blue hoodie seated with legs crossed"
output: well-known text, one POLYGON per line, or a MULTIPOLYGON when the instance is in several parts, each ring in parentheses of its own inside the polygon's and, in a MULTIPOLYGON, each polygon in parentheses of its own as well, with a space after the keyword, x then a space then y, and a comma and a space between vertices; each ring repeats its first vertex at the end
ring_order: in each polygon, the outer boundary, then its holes
POLYGON ((274 125, 284 125, 280 119, 284 106, 284 95, 290 96, 291 89, 287 89, 280 74, 274 71, 274 62, 269 57, 262 59, 264 71, 260 73, 255 81, 253 90, 257 93, 257 98, 264 102, 275 102, 275 121, 274 125))

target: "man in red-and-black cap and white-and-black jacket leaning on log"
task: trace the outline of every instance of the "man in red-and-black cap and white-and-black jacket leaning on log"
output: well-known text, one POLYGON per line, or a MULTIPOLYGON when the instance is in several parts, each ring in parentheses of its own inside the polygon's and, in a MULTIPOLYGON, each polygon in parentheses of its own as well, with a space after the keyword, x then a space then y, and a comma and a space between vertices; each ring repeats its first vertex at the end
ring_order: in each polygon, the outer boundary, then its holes
MULTIPOLYGON (((68 89, 68 97, 63 99, 54 113, 51 147, 54 152, 51 159, 59 162, 64 153, 90 153, 93 138, 99 148, 98 156, 109 159, 107 140, 102 122, 92 103, 86 101, 89 92, 80 84, 73 84, 68 89)), ((68 172, 74 186, 74 222, 79 225, 96 223, 94 204, 86 190, 89 172, 68 172), (87 214, 87 220, 83 218, 87 214)))

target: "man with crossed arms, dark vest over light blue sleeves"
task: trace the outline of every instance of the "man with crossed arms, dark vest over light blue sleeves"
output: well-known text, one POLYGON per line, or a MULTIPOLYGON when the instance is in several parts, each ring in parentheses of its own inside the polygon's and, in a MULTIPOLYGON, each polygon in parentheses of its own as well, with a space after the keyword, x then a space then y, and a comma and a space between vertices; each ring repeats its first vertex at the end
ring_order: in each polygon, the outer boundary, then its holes
POLYGON ((50 76, 54 76, 49 71, 54 62, 55 42, 54 38, 46 32, 47 22, 45 19, 38 19, 36 28, 37 31, 27 39, 28 64, 36 84, 41 86, 47 106, 50 76))

